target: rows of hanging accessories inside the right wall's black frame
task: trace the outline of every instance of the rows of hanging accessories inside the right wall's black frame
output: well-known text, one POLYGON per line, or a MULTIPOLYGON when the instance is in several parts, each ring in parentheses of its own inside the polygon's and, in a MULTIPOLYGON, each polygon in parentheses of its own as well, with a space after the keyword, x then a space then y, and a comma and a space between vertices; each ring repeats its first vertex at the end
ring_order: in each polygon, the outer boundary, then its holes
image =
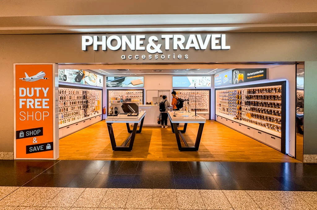
POLYGON ((216 114, 230 115, 281 136, 282 88, 279 86, 216 90, 216 114))

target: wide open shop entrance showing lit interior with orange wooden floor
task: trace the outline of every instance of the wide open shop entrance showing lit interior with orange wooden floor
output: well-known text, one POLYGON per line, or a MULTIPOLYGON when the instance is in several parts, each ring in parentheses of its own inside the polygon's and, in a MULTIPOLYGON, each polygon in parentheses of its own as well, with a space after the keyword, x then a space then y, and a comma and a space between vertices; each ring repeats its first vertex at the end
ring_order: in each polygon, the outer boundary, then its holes
POLYGON ((276 64, 61 64, 59 159, 298 162, 295 75, 295 65, 276 64), (162 127, 159 104, 172 92, 183 106, 166 107, 162 127), (120 119, 133 111, 144 119, 120 119), (181 121, 195 114, 200 123, 181 121), (182 148, 199 137, 199 149, 180 151, 178 132, 182 148), (132 150, 114 151, 114 142, 132 150))

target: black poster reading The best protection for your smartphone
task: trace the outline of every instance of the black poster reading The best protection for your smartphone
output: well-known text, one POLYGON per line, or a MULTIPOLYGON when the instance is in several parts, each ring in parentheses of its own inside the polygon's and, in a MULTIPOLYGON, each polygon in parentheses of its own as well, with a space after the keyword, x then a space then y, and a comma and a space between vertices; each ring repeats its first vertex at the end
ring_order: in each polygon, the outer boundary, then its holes
POLYGON ((268 78, 267 69, 234 69, 233 84, 257 81, 268 78))

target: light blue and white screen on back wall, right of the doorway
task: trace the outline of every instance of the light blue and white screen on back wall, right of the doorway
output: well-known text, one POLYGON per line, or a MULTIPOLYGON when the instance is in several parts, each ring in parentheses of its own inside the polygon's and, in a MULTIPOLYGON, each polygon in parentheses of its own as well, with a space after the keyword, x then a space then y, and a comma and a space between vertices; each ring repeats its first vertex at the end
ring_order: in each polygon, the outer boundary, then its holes
POLYGON ((173 87, 210 87, 211 77, 173 77, 173 87))

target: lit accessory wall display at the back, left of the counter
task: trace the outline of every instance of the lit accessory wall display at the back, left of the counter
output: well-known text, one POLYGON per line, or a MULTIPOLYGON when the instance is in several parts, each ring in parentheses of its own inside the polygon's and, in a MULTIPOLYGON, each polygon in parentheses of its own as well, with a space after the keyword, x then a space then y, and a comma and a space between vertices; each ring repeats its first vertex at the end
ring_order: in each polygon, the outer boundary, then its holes
POLYGON ((143 90, 108 90, 108 103, 143 104, 143 90))

